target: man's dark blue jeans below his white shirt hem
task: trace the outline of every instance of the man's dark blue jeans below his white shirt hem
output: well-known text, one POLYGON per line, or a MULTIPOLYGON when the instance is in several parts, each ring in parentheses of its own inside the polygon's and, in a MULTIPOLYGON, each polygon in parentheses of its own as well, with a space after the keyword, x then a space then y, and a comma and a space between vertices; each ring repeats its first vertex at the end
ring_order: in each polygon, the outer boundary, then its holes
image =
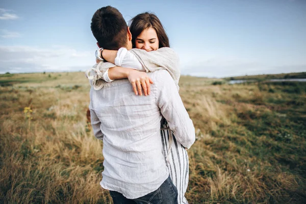
POLYGON ((174 204, 177 203, 177 189, 173 185, 170 176, 155 191, 136 199, 127 199, 121 193, 110 191, 114 204, 174 204))

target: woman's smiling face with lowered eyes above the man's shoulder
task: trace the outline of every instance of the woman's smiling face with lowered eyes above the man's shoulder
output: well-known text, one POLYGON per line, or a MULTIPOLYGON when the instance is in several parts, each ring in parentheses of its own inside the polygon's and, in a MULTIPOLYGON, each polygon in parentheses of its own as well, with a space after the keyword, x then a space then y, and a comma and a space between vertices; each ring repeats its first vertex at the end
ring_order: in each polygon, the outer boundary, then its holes
POLYGON ((135 40, 136 48, 145 49, 147 52, 157 50, 159 41, 154 28, 148 28, 141 32, 135 40))

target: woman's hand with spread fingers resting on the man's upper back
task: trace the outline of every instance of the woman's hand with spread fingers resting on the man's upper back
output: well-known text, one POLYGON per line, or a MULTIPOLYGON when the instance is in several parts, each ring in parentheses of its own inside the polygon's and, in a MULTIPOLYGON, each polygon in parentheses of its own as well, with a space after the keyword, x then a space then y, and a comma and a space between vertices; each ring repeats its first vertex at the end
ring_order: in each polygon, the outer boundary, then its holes
POLYGON ((130 69, 129 73, 127 74, 127 79, 132 84, 134 93, 136 95, 138 95, 138 93, 139 95, 142 95, 141 88, 143 89, 144 95, 150 94, 150 84, 153 84, 153 82, 151 78, 148 77, 146 72, 130 69))

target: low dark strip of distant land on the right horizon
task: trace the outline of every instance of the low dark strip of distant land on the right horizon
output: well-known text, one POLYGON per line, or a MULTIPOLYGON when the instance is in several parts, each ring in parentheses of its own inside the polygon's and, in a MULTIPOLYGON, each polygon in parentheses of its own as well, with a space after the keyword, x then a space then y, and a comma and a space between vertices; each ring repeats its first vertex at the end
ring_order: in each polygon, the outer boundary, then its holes
POLYGON ((271 79, 306 79, 306 72, 245 75, 240 77, 224 78, 224 80, 271 80, 271 79))

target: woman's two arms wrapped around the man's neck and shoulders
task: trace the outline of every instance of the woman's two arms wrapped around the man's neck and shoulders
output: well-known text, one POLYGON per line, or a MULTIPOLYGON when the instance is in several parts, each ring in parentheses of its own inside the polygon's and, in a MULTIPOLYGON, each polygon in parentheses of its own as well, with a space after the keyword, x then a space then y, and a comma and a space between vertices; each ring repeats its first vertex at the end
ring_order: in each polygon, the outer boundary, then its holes
MULTIPOLYGON (((104 79, 107 82, 111 82, 117 79, 126 79, 128 78, 132 83, 133 88, 137 86, 137 89, 134 89, 134 92, 141 90, 142 87, 144 90, 147 90, 149 94, 149 85, 151 80, 148 80, 147 76, 144 73, 131 72, 130 68, 122 67, 131 67, 136 68, 137 70, 145 71, 155 71, 157 69, 163 68, 166 69, 171 77, 173 78, 177 88, 179 89, 179 79, 180 79, 180 70, 179 70, 179 58, 169 47, 163 47, 156 51, 146 52, 142 49, 132 49, 130 52, 127 52, 126 48, 120 48, 117 50, 103 50, 103 58, 107 61, 115 63, 121 68, 114 67, 110 68, 105 74, 104 79), (138 67, 138 68, 137 68, 138 67), (128 74, 135 74, 129 75, 128 74), (106 80, 108 79, 108 80, 106 80), (143 79, 145 81, 143 81, 143 79)), ((100 62, 97 60, 97 63, 100 62)), ((145 93, 145 92, 144 92, 145 93)), ((139 91, 141 94, 141 91, 139 91)))

